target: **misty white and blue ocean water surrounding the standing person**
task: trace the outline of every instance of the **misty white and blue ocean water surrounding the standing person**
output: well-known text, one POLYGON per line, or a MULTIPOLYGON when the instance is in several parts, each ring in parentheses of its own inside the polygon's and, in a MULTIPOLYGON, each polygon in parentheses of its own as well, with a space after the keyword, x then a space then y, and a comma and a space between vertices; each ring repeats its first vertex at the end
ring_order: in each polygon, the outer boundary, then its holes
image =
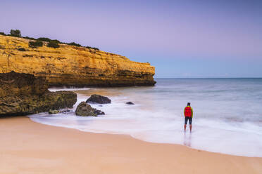
POLYGON ((238 156, 262 157, 262 79, 156 79, 156 86, 50 88, 75 91, 77 105, 92 94, 111 104, 92 104, 98 117, 40 113, 32 121, 92 133, 131 135, 146 142, 185 145, 238 156), (126 105, 125 102, 135 105, 126 105), (192 133, 184 132, 183 110, 194 109, 192 133))

